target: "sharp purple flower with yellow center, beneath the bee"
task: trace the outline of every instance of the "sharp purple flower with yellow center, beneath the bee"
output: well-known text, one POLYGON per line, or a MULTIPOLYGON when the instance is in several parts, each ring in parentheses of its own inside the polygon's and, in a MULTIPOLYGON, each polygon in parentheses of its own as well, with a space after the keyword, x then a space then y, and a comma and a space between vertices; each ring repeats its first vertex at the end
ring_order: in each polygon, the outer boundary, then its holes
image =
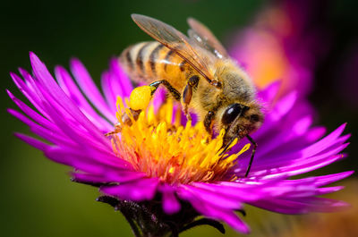
POLYGON ((345 157, 339 153, 349 137, 342 135, 345 125, 326 137, 324 128, 311 127, 311 110, 296 91, 273 103, 279 85, 260 89, 266 119, 252 134, 259 148, 245 177, 251 154, 245 151, 247 140, 240 140, 231 155, 218 157, 221 135, 209 140, 202 124, 182 126, 170 104, 156 113, 151 107, 138 121, 132 120, 132 126, 122 124, 121 132, 106 136, 114 130, 116 115, 125 112, 117 97, 129 97, 132 90, 116 59, 102 75, 104 97, 77 59, 71 68, 78 86, 63 67, 55 68, 55 80, 37 55, 30 53, 30 62, 32 75, 20 69, 23 80, 13 72, 11 76, 35 109, 9 91, 23 114, 13 109, 9 113, 42 140, 16 136, 53 161, 72 166, 74 181, 98 186, 105 194, 99 200, 122 210, 135 233, 148 222, 157 225, 141 231, 154 229, 156 236, 195 224, 221 228, 210 219, 248 233, 249 227, 234 213, 243 212, 245 203, 285 214, 345 207, 344 202, 317 196, 342 189, 324 186, 353 172, 291 179, 345 157), (210 219, 195 223, 199 215, 210 219))

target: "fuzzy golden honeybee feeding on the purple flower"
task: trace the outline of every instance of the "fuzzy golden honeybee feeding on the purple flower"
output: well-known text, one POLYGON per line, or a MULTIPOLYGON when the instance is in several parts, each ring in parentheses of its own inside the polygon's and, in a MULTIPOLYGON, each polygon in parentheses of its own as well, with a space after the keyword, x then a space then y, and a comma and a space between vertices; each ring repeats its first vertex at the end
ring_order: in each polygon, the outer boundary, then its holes
POLYGON ((132 20, 157 41, 126 48, 119 58, 124 71, 136 82, 148 82, 153 93, 166 87, 188 119, 190 112, 199 115, 209 134, 224 129, 222 154, 236 138, 248 138, 253 149, 247 176, 257 148, 250 133, 263 121, 251 78, 199 21, 188 19, 188 38, 148 16, 132 14, 132 20))

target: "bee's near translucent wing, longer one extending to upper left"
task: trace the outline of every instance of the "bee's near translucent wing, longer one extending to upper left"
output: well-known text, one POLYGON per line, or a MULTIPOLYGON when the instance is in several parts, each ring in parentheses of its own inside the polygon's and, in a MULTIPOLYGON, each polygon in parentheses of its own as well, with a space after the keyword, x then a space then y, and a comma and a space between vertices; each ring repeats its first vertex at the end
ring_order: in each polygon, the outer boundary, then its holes
POLYGON ((148 16, 132 14, 132 19, 141 30, 144 30, 150 37, 155 38, 165 47, 181 56, 209 82, 212 80, 209 72, 209 59, 202 56, 200 47, 194 48, 195 44, 183 33, 162 21, 148 16))

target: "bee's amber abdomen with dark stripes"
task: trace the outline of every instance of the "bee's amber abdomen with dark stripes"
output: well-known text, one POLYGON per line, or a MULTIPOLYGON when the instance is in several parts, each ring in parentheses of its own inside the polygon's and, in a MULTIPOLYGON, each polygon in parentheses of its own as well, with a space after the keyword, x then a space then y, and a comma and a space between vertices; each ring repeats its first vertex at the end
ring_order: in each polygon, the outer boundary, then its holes
POLYGON ((183 58, 157 41, 142 42, 124 50, 121 65, 132 80, 167 80, 182 91, 193 70, 183 58))

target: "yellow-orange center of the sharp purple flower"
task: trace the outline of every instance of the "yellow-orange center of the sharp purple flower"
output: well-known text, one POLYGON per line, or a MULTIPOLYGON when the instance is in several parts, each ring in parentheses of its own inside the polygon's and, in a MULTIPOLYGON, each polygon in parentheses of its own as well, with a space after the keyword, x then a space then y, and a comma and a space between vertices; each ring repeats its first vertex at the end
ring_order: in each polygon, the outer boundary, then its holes
MULTIPOLYGON (((118 121, 122 121, 124 113, 132 119, 120 97, 117 107, 118 121)), ((180 110, 176 110, 175 116, 173 113, 173 102, 168 100, 157 113, 153 106, 149 106, 137 121, 132 119, 131 125, 120 123, 121 131, 112 137, 115 154, 130 162, 135 170, 158 177, 163 182, 215 182, 223 180, 236 164, 236 158, 250 148, 250 144, 246 144, 237 154, 220 156, 224 131, 211 139, 203 123, 192 126, 188 122, 183 126, 180 110)), ((236 179, 234 176, 228 178, 236 179)))

